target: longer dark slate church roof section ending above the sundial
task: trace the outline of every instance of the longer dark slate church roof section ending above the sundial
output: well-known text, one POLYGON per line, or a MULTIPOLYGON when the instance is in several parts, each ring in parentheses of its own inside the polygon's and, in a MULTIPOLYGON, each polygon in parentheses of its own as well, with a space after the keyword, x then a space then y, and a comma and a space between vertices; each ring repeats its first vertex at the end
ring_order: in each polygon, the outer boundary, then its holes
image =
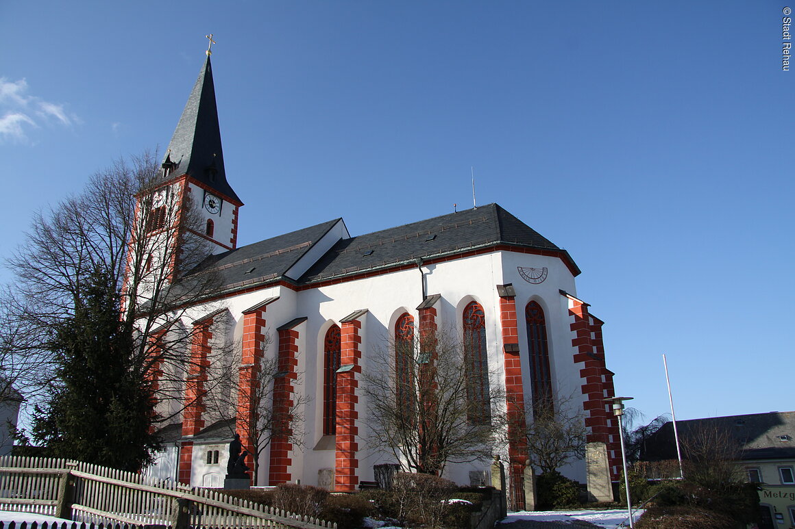
POLYGON ((579 273, 565 250, 498 204, 488 204, 339 241, 309 268, 299 283, 311 284, 500 244, 560 253, 579 273))

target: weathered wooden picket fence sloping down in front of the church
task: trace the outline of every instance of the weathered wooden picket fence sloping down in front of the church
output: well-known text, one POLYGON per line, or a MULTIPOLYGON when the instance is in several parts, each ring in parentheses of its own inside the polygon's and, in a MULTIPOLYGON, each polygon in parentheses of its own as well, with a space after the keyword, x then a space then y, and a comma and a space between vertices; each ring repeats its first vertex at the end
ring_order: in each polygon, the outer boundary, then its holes
POLYGON ((0 458, 0 510, 76 522, 173 529, 336 529, 207 488, 190 488, 80 461, 0 458))

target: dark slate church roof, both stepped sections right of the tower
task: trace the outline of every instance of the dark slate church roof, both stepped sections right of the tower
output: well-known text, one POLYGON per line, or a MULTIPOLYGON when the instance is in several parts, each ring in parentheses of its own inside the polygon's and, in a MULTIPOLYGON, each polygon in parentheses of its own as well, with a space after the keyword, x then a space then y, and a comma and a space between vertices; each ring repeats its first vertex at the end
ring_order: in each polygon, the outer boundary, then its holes
MULTIPOLYGON (((336 222, 272 237, 210 257, 200 269, 217 269, 221 292, 235 292, 267 284, 285 277, 305 253, 336 222)), ((560 256, 580 273, 564 249, 542 237, 497 204, 429 218, 428 220, 381 230, 372 234, 341 239, 308 269, 297 284, 313 284, 330 278, 390 268, 398 264, 427 260, 494 245, 514 245, 538 249, 560 256)), ((188 274, 188 279, 192 274, 188 274)))

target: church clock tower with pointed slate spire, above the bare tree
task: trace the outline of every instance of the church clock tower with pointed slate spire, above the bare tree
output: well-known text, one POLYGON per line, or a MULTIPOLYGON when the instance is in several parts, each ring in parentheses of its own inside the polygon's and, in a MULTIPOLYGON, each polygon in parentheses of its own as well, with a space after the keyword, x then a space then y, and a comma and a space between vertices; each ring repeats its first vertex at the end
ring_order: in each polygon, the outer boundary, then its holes
POLYGON ((161 168, 153 207, 189 210, 190 229, 211 242, 211 253, 235 249, 238 208, 243 204, 227 182, 223 165, 209 51, 161 168))

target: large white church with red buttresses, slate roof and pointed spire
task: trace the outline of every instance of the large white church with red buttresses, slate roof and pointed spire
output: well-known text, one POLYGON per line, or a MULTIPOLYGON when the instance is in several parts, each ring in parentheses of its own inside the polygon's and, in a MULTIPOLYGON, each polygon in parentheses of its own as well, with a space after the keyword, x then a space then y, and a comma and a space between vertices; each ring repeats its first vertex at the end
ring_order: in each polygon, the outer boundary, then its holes
MULTIPOLYGON (((361 373, 378 369, 370 355, 398 327, 419 336, 450 326, 475 337, 473 363, 499 373, 500 389, 522 420, 532 420, 530 407, 542 392, 574 396, 588 427, 588 464, 584 458, 562 471, 587 481, 593 499, 612 500, 621 454, 618 426, 604 399, 614 396, 613 373, 605 365, 603 322, 576 297, 580 269, 564 249, 497 204, 357 236, 335 218, 238 248, 242 202, 223 165, 209 57, 163 168, 154 193, 183 201, 176 207, 188 200, 200 206, 203 236, 215 253, 212 267, 223 281, 223 315, 215 312, 217 305, 197 305, 192 321, 182 325, 199 329, 205 348, 212 340, 239 342, 244 387, 254 384, 250 365, 278 357, 288 366, 286 380, 296 380, 297 373, 301 379, 274 399, 308 397, 303 449, 274 438, 259 461, 255 485, 300 481, 352 491, 360 481, 373 481, 374 465, 396 461, 370 450, 363 438, 368 418, 361 373), (232 329, 211 338, 212 322, 222 317, 232 329)), ((153 203, 164 207, 162 199, 153 203)), ((301 226, 300 208, 295 222, 301 226)), ((199 393, 189 393, 196 385, 188 385, 188 407, 171 410, 180 423, 165 429, 168 448, 148 472, 216 486, 226 468, 230 419, 239 430, 250 403, 238 396, 235 418, 213 417, 199 393)), ((248 446, 250 439, 243 436, 242 442, 248 446)), ((532 490, 525 492, 523 450, 514 442, 501 456, 516 507, 532 490)), ((491 461, 482 461, 451 465, 445 477, 468 483, 490 472, 491 461)))

